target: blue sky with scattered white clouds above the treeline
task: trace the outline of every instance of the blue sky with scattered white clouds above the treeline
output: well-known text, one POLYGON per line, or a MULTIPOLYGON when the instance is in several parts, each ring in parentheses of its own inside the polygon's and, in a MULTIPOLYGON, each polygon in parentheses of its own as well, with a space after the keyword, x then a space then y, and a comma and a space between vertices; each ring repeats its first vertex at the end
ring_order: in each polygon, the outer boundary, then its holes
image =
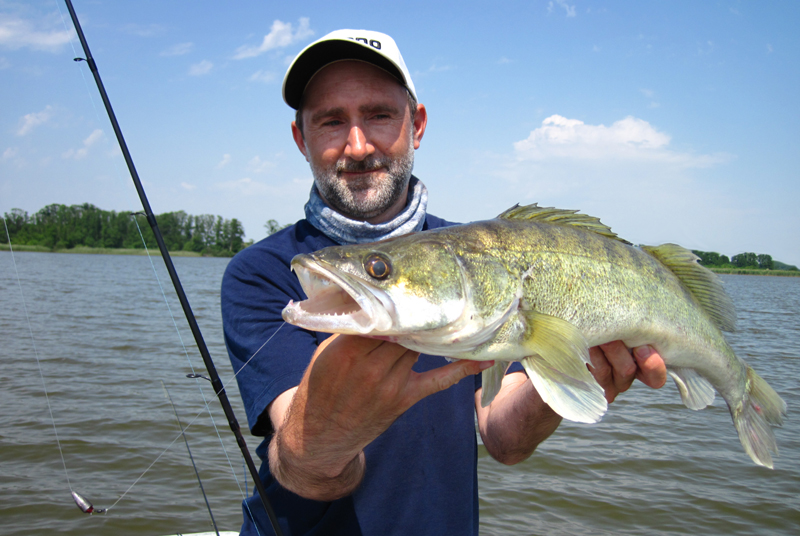
MULTIPOLYGON (((459 222, 578 209, 634 243, 800 266, 800 3, 74 0, 156 214, 303 217, 283 75, 340 28, 391 35, 459 222)), ((65 4, 0 0, 0 213, 140 210, 65 4)))

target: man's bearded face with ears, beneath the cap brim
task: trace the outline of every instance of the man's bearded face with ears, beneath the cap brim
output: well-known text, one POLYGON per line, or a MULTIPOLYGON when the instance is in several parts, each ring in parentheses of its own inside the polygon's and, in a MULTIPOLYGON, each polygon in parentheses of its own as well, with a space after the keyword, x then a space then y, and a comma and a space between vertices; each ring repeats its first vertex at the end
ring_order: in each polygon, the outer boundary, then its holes
POLYGON ((371 223, 403 209, 427 118, 420 106, 412 122, 397 80, 368 63, 334 63, 312 78, 302 114, 295 142, 328 205, 371 223))

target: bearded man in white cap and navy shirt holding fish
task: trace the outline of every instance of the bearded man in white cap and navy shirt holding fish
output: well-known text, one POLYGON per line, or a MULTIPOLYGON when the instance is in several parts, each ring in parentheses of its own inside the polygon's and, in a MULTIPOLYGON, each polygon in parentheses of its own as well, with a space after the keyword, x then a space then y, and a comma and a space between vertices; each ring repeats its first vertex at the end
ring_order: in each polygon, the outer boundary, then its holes
MULTIPOLYGON (((397 46, 387 35, 340 30, 289 67, 292 135, 314 175, 306 219, 247 248, 223 280, 225 339, 255 435, 269 499, 286 534, 477 534, 474 412, 490 454, 531 455, 561 418, 520 367, 482 408, 489 363, 419 355, 396 344, 311 333, 280 313, 304 294, 289 262, 335 244, 450 225, 426 213, 411 175, 427 125, 397 46)), ((610 401, 666 369, 649 347, 590 352, 610 401)), ((270 533, 257 497, 242 534, 270 533), (256 528, 257 527, 257 528, 256 528)))

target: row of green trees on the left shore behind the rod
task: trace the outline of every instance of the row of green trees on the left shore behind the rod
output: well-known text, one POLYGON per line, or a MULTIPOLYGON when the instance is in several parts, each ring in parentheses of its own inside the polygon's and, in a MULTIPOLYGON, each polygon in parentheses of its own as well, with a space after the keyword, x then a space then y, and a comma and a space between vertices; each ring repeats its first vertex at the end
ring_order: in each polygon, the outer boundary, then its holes
MULTIPOLYGON (((150 249, 158 247, 142 213, 102 210, 89 203, 47 205, 35 214, 15 208, 5 213, 5 220, 14 245, 44 246, 53 250, 76 246, 142 249, 144 244, 150 249)), ((180 210, 159 214, 156 221, 170 251, 233 256, 246 246, 244 227, 236 218, 228 220, 211 214, 192 216, 180 210)), ((4 232, 0 243, 8 243, 4 232)))

